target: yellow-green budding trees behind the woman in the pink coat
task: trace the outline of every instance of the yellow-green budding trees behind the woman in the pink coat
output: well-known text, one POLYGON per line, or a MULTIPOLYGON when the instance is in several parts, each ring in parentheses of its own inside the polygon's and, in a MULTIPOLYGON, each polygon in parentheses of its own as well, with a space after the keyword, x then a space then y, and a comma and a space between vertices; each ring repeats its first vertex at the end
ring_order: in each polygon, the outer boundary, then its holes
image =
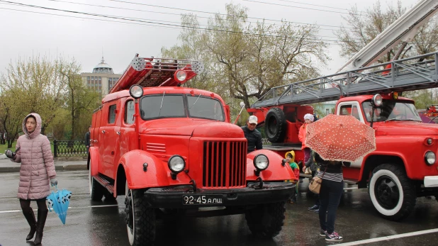
POLYGON ((0 77, 0 130, 6 130, 9 147, 28 113, 40 114, 43 134, 82 140, 100 95, 86 87, 79 72, 74 59, 30 57, 11 62, 0 77))

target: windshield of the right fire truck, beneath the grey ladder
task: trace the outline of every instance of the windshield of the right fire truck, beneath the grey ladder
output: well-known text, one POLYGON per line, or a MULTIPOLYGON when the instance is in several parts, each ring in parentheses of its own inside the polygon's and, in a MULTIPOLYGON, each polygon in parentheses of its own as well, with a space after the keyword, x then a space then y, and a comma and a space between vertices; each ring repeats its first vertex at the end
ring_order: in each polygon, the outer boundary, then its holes
MULTIPOLYGON (((366 121, 371 121, 371 101, 364 101, 362 107, 366 121)), ((383 105, 374 111, 373 121, 421 121, 421 118, 411 102, 383 100, 383 105)))

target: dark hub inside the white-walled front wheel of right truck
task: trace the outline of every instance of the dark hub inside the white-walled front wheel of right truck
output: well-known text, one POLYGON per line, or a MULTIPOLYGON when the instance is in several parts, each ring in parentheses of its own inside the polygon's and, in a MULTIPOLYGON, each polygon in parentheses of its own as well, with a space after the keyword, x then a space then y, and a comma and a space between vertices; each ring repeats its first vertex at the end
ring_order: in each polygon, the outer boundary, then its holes
POLYGON ((378 204, 386 209, 393 209, 398 204, 400 193, 395 181, 390 177, 379 177, 374 186, 374 193, 378 204))

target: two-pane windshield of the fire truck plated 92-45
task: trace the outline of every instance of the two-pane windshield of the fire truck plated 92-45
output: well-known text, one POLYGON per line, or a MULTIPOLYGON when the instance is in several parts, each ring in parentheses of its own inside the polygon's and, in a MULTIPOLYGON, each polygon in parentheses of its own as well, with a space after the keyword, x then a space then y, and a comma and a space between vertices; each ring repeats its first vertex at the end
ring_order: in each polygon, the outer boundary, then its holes
POLYGON ((190 118, 206 118, 225 121, 223 106, 217 99, 206 96, 182 94, 155 94, 140 99, 140 115, 143 120, 155 118, 186 118, 185 105, 190 118))

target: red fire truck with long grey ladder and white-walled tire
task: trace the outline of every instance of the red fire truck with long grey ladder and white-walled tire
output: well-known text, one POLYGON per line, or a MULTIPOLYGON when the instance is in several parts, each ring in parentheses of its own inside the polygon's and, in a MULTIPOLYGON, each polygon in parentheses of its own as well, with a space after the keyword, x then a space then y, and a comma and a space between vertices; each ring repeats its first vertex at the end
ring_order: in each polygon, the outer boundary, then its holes
POLYGON ((259 118, 272 143, 264 148, 280 155, 294 150, 297 162, 302 161, 298 130, 305 113, 313 114, 307 104, 337 100, 335 114, 354 116, 376 133, 376 150, 343 167, 347 184, 367 188, 376 211, 389 220, 409 216, 417 197, 438 198, 438 125, 422 123, 414 101, 401 97, 403 91, 437 87, 438 52, 370 66, 401 43, 398 59, 417 28, 437 11, 437 0, 420 1, 337 74, 264 94, 247 110, 259 118))

